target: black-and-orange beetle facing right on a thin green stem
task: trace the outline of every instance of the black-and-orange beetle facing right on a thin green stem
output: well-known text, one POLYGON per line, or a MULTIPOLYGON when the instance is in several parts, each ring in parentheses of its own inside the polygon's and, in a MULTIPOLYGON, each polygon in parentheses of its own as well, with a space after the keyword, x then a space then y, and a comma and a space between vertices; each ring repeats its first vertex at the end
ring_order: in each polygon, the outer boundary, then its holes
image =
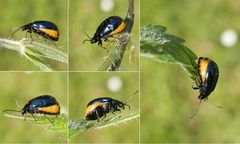
POLYGON ((90 101, 87 104, 85 111, 86 120, 100 120, 101 117, 104 119, 106 114, 112 112, 113 114, 116 111, 121 112, 121 109, 125 109, 127 106, 130 109, 130 106, 126 103, 123 103, 119 100, 112 99, 110 97, 96 98, 90 101))

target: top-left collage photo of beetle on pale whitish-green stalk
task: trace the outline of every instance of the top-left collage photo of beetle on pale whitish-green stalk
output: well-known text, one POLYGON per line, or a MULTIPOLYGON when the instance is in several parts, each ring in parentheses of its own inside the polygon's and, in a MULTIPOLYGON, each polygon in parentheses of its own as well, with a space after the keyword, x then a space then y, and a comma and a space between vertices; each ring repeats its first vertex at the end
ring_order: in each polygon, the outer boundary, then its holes
POLYGON ((0 71, 68 69, 68 0, 0 0, 0 71))

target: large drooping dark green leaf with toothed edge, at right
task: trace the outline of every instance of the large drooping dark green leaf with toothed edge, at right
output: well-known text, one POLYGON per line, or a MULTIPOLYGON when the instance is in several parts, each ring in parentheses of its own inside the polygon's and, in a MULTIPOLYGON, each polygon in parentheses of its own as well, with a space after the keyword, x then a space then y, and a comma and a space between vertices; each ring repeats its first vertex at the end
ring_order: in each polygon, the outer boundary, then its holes
POLYGON ((166 33, 167 28, 159 25, 147 25, 141 28, 141 56, 161 63, 180 64, 190 77, 199 83, 197 73, 197 55, 183 43, 182 38, 166 33))

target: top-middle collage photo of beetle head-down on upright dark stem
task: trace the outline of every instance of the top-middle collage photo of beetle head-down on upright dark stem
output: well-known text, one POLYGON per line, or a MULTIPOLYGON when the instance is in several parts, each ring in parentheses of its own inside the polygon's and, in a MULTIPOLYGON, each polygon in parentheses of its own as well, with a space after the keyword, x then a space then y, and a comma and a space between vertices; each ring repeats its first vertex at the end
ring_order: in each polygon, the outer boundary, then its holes
POLYGON ((69 2, 70 71, 139 71, 139 0, 69 2))

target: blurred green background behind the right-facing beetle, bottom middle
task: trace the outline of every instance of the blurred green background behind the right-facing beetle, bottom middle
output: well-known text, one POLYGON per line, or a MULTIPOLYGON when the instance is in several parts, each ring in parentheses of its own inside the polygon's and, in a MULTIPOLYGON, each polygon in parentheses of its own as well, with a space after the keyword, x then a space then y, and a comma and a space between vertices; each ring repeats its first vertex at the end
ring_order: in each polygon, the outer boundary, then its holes
MULTIPOLYGON (((87 104, 98 97, 111 97, 126 102, 132 94, 139 89, 139 73, 106 73, 106 72, 71 72, 69 77, 69 119, 85 119, 87 104), (111 86, 116 86, 116 91, 108 86, 108 82, 119 79, 111 86), (120 82, 121 85, 117 86, 120 82)), ((128 102, 131 109, 123 110, 122 115, 139 110, 139 93, 132 96, 128 102)), ((109 113, 108 116, 111 115, 109 113)), ((95 121, 97 122, 97 121, 95 121)), ((139 142, 139 119, 126 123, 83 132, 70 139, 72 143, 137 143, 139 142)))

